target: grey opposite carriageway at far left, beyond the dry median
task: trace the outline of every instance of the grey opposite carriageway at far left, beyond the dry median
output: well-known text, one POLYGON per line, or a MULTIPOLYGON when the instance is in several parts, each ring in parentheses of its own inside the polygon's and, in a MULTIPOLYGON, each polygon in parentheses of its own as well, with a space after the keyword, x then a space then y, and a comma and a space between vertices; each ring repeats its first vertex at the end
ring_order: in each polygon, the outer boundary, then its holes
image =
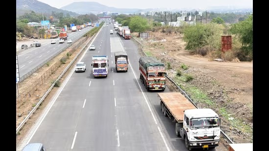
MULTIPOLYGON (((80 39, 85 33, 90 31, 93 27, 83 28, 80 32, 71 32, 68 34, 68 39, 73 42, 80 39)), ((55 44, 51 44, 52 39, 38 40, 41 43, 41 47, 33 47, 24 50, 18 54, 18 65, 20 77, 30 72, 32 69, 43 63, 48 58, 52 57, 57 52, 61 51, 64 47, 70 45, 70 43, 59 43, 59 38, 53 39, 56 41, 55 44)))

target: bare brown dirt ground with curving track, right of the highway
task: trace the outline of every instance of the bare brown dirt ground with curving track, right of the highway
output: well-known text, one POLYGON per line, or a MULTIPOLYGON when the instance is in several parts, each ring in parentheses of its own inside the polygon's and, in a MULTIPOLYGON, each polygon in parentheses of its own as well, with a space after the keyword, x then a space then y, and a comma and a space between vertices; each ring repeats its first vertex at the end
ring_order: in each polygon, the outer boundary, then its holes
MULTIPOLYGON (((189 85, 198 87, 216 103, 212 109, 221 115, 223 131, 234 143, 252 143, 253 63, 210 61, 209 57, 191 55, 184 50, 185 43, 179 34, 150 32, 149 35, 151 37, 143 41, 144 51, 163 63, 170 62, 172 69, 167 72, 171 78, 182 64, 187 65, 188 69, 183 72, 194 77, 189 85), (227 116, 222 113, 223 108, 227 116), (234 119, 241 121, 237 127, 232 126, 234 119)), ((198 107, 207 105, 198 103, 198 107)))

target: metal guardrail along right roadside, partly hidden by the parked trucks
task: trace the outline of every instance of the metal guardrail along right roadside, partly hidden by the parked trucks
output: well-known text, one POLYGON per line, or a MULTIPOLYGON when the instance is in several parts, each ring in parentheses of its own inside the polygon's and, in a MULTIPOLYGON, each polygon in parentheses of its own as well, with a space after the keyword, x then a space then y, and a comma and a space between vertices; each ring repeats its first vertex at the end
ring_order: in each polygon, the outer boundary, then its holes
MULTIPOLYGON (((137 42, 137 43, 140 43, 136 38, 134 38, 134 36, 132 36, 132 38, 137 42)), ((145 52, 144 52, 144 50, 143 50, 143 44, 142 43, 140 43, 141 44, 141 50, 142 50, 142 52, 143 52, 143 54, 144 55, 146 55, 146 56, 148 56, 145 52)), ((177 86, 177 88, 179 89, 179 91, 196 107, 196 108, 198 108, 197 107, 197 105, 192 101, 192 99, 187 95, 187 93, 185 93, 170 77, 168 77, 167 75, 166 75, 166 78, 168 78, 175 86, 177 86)), ((224 131, 221 129, 221 133, 223 134, 223 136, 225 137, 225 139, 227 139, 228 141, 229 141, 229 143, 231 143, 231 144, 234 144, 234 142, 224 133, 224 131)))

